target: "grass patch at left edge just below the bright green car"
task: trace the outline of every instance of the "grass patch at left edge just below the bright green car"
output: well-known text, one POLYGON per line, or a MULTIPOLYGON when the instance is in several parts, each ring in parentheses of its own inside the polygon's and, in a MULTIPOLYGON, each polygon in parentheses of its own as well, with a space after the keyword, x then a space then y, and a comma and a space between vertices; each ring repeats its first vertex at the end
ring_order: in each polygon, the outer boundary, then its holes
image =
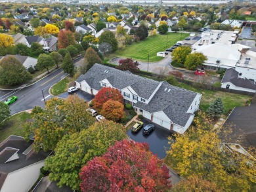
POLYGON ((6 125, 0 128, 0 143, 3 142, 10 135, 24 136, 23 125, 32 116, 30 113, 22 112, 10 117, 6 125))

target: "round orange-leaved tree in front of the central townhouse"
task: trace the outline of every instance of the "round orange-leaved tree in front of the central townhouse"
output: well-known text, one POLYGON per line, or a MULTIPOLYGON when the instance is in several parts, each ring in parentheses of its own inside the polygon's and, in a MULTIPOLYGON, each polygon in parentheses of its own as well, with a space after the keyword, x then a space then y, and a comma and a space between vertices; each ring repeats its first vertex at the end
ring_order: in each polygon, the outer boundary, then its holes
POLYGON ((118 101, 108 100, 103 104, 101 114, 108 120, 119 121, 125 117, 124 106, 118 101))

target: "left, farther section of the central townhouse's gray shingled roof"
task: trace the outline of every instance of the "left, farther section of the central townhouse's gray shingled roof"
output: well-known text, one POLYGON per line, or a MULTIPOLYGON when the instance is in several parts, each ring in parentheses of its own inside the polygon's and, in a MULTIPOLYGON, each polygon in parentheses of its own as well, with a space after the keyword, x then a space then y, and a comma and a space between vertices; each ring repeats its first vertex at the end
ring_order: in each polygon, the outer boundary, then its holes
POLYGON ((129 71, 121 71, 112 67, 95 64, 87 73, 77 78, 77 82, 85 80, 92 88, 100 90, 100 81, 108 79, 110 84, 119 90, 131 86, 137 94, 145 99, 150 98, 152 92, 159 85, 158 81, 146 79, 138 75, 133 75, 129 71), (109 71, 108 73, 104 71, 109 71), (94 78, 92 78, 94 77, 94 78))

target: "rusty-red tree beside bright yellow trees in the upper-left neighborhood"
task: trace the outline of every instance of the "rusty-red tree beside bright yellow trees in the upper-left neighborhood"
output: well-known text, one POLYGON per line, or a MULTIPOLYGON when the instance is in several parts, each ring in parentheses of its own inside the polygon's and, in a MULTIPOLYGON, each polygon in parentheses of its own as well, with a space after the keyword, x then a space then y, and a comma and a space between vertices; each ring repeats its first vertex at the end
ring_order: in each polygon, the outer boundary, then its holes
POLYGON ((58 33, 58 48, 66 48, 69 45, 75 45, 75 35, 72 31, 60 30, 58 33))

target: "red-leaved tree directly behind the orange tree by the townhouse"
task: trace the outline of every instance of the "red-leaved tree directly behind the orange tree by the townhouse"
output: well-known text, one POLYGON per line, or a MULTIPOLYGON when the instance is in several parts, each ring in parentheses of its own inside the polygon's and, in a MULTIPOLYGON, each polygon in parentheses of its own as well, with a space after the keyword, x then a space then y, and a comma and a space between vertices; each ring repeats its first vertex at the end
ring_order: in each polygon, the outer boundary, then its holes
POLYGON ((96 110, 101 111, 103 104, 108 100, 118 101, 123 104, 123 96, 119 90, 111 87, 103 87, 95 95, 95 99, 93 100, 93 107, 95 107, 96 110))

